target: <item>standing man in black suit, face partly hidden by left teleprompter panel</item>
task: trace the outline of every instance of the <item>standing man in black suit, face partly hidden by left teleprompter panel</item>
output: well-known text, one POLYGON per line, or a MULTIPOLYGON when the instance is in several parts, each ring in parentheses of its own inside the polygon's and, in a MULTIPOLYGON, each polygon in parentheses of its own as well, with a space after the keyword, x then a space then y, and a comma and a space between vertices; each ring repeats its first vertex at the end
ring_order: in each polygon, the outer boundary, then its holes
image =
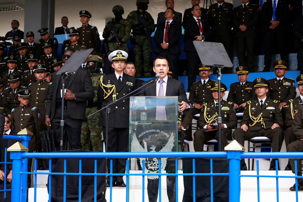
MULTIPOLYGON (((71 56, 75 50, 68 49, 64 52, 65 59, 71 56)), ((62 66, 64 68, 64 65, 62 66)), ((65 81, 66 92, 64 94, 64 106, 62 106, 62 76, 54 73, 52 86, 48 93, 48 100, 45 109, 45 125, 51 125, 55 133, 55 146, 57 151, 60 150, 60 120, 61 109, 64 108, 64 133, 63 133, 63 150, 82 149, 81 144, 81 126, 85 119, 86 101, 95 97, 94 88, 90 73, 79 68, 72 75, 67 76, 65 81)))

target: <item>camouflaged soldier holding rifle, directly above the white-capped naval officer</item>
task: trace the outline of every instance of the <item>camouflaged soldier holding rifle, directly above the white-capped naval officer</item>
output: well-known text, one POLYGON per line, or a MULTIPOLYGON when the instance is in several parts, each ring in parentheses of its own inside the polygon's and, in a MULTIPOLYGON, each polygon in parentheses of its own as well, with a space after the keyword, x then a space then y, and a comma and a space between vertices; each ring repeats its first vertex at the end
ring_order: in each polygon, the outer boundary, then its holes
POLYGON ((112 35, 113 33, 112 31, 113 27, 111 26, 112 23, 114 28, 117 30, 116 32, 118 34, 120 43, 118 44, 115 37, 109 40, 107 56, 115 50, 123 50, 128 53, 126 42, 131 37, 131 31, 132 31, 132 27, 130 23, 126 19, 122 18, 122 15, 124 14, 124 8, 121 5, 115 5, 112 11, 115 15, 115 19, 112 19, 105 25, 102 36, 104 39, 108 39, 108 37, 112 35))

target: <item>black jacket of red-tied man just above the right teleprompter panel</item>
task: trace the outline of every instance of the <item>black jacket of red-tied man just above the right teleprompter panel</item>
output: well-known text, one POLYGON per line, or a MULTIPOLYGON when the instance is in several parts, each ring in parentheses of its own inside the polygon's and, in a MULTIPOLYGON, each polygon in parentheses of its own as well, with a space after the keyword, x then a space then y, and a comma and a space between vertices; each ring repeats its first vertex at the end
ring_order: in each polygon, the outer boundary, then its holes
MULTIPOLYGON (((211 28, 206 20, 201 20, 203 35, 205 36, 205 41, 211 41, 211 28)), ((185 45, 184 51, 196 52, 193 41, 196 40, 195 36, 200 35, 200 29, 197 21, 194 17, 188 18, 185 23, 185 45)))

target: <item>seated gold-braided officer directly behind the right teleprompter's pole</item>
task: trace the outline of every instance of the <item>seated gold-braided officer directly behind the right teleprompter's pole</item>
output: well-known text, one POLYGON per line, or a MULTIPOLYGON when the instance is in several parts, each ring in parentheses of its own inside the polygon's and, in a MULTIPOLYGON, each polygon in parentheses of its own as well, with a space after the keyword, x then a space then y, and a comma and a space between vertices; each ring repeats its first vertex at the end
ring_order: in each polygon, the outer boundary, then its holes
MULTIPOLYGON (((203 151, 204 143, 216 139, 218 140, 218 82, 211 84, 213 100, 204 103, 199 117, 198 126, 199 130, 194 133, 194 149, 195 151, 203 151), (213 130, 213 131, 207 131, 213 130)), ((221 83, 221 150, 227 146, 227 140, 231 140, 232 129, 237 125, 237 117, 233 108, 233 103, 223 100, 227 87, 221 83)))

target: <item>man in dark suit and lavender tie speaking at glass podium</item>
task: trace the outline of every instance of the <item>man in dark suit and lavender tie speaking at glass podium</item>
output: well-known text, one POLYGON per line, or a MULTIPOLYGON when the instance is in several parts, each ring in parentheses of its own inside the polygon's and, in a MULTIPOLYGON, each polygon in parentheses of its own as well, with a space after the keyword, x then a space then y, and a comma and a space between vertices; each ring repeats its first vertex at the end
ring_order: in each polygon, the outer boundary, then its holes
MULTIPOLYGON (((199 7, 200 8, 200 7, 199 7)), ((186 97, 185 89, 181 81, 171 79, 167 76, 169 70, 168 60, 163 56, 158 56, 154 59, 153 70, 156 74, 160 74, 160 78, 156 85, 151 83, 145 86, 145 89, 139 94, 139 96, 181 96, 182 102, 179 103, 178 111, 182 112, 185 109, 189 110, 191 108, 190 103, 186 97), (153 86, 152 86, 153 85, 153 86)), ((149 82, 149 81, 147 81, 149 82)), ((145 85, 147 82, 143 82, 145 85)), ((157 119, 159 119, 159 113, 157 114, 157 119)), ((164 118, 164 117, 163 117, 164 118)), ((165 167, 166 173, 174 173, 175 160, 168 160, 165 167), (172 161, 172 162, 171 162, 172 161)), ((147 191, 148 200, 156 202, 158 197, 158 179, 148 179, 147 191)), ((175 194, 175 176, 167 176, 167 195, 169 201, 176 200, 175 194)), ((161 186, 161 185, 160 185, 161 186)))

